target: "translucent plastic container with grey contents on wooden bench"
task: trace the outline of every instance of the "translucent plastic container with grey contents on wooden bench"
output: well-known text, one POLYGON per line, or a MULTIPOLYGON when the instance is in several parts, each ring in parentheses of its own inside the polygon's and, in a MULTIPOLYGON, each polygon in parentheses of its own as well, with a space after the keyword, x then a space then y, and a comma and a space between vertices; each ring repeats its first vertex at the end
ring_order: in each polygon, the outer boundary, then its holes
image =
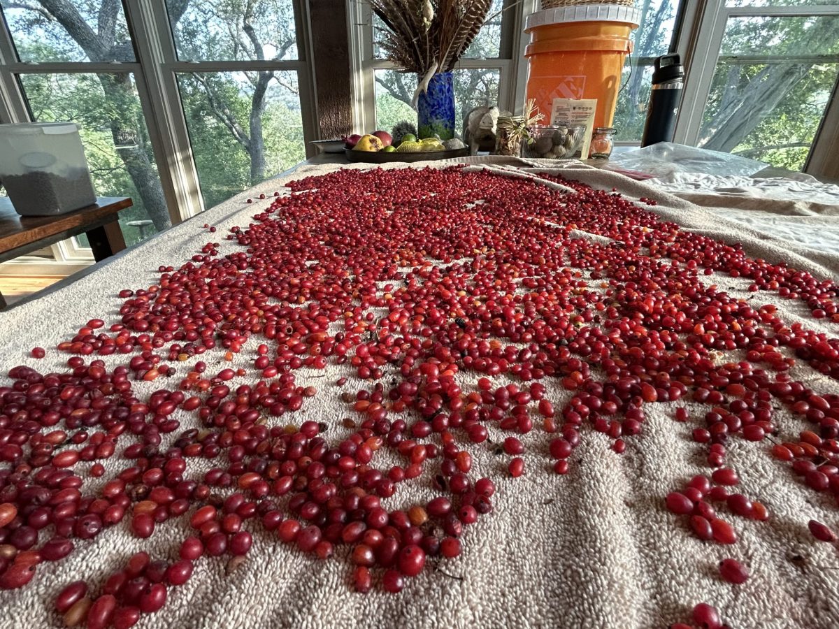
POLYGON ((74 122, 0 124, 0 183, 21 216, 56 216, 96 203, 74 122))

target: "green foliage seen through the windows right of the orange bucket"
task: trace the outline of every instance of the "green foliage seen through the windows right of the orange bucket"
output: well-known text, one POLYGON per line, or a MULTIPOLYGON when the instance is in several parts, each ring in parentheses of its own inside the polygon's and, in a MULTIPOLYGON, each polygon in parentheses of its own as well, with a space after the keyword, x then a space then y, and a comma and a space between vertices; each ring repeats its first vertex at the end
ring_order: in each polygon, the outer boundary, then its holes
MULTIPOLYGON (((685 0, 682 0, 685 2, 685 0)), ((792 3, 792 2, 790 2, 792 3)), ((664 24, 673 14, 674 0, 644 0, 639 8, 648 16, 661 14, 664 24)), ((748 4, 748 3, 747 3, 748 4)), ((654 32, 644 19, 633 34, 633 57, 664 54, 664 29, 654 32)), ((731 144, 732 153, 759 159, 776 167, 800 170, 816 135, 839 63, 789 62, 796 55, 836 55, 839 52, 839 18, 783 17, 732 18, 722 43, 711 93, 702 118, 700 146, 718 150, 731 144), (726 57, 725 55, 729 55, 726 57), (744 63, 736 55, 770 55, 765 63, 744 63), (789 70, 791 68, 791 70, 789 70), (761 83, 766 88, 759 91, 761 83), (782 96, 774 107, 764 108, 758 94, 782 96)), ((649 103, 651 65, 624 68, 614 126, 616 139, 638 141, 644 132, 649 103)))

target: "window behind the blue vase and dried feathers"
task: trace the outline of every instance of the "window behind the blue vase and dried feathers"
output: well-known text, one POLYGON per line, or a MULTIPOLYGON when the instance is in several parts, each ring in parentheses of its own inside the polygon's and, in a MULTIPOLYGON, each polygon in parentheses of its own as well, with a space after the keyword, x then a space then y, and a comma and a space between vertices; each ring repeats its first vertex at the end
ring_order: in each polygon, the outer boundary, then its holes
MULTIPOLYGON (((370 132, 374 128, 390 131, 397 122, 416 123, 412 105, 417 77, 394 68, 383 59, 378 48, 378 33, 383 27, 367 3, 352 0, 356 8, 357 31, 352 45, 357 47, 356 101, 362 103, 357 116, 357 131, 370 132)), ((516 101, 516 83, 520 76, 519 38, 524 5, 532 2, 493 0, 487 22, 477 34, 456 69, 455 75, 455 131, 461 134, 463 118, 473 107, 496 105, 513 111, 521 106, 516 101), (513 53, 513 51, 515 51, 513 53)))

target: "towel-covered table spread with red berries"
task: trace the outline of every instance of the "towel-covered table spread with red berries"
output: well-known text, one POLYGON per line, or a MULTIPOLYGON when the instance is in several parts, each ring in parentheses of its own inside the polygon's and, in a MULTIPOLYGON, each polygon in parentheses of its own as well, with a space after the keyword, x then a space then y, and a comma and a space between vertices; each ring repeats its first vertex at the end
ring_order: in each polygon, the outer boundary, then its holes
POLYGON ((696 200, 301 168, 0 312, 0 627, 839 626, 839 208, 696 200))

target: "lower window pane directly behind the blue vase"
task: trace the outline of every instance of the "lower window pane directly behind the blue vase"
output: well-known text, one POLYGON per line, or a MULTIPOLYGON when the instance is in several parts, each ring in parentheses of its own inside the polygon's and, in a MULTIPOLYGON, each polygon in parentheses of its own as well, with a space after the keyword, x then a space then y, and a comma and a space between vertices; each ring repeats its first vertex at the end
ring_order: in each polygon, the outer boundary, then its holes
MULTIPOLYGON (((498 103, 499 70, 455 70, 455 134, 460 137, 463 117, 479 105, 498 103)), ((417 122, 411 99, 417 77, 410 72, 376 70, 376 124, 390 131, 397 122, 417 122)))

